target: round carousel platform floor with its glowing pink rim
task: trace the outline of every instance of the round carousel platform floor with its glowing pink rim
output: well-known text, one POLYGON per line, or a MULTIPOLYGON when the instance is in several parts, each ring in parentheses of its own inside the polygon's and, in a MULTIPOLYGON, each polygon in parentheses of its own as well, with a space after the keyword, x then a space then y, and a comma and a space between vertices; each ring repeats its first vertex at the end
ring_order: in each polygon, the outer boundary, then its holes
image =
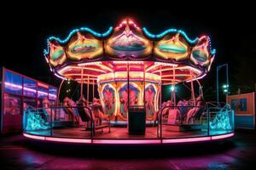
POLYGON ((79 144, 177 144, 212 141, 225 139, 234 135, 232 131, 216 131, 207 133, 201 131, 175 132, 169 126, 163 126, 161 133, 158 127, 146 127, 145 134, 129 134, 126 127, 111 127, 96 130, 95 135, 86 131, 84 127, 59 127, 49 130, 37 130, 24 132, 28 139, 55 143, 79 143, 79 144), (158 133, 159 130, 159 133, 158 133))

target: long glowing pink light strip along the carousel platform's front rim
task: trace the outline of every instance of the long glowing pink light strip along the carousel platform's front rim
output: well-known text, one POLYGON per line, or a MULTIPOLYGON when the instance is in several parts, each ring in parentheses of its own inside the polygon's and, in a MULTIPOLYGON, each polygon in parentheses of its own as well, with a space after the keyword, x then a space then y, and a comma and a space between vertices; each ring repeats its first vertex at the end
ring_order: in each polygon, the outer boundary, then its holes
MULTIPOLYGON (((207 136, 207 137, 195 137, 187 139, 162 139, 163 144, 178 144, 178 143, 189 143, 189 142, 202 142, 211 141, 215 139, 225 139, 234 136, 235 133, 222 134, 217 136, 207 136)), ((38 136, 23 133, 23 136, 30 139, 39 139, 46 141, 55 142, 67 142, 67 143, 80 143, 80 144, 161 144, 160 139, 65 139, 65 138, 55 138, 38 136)))

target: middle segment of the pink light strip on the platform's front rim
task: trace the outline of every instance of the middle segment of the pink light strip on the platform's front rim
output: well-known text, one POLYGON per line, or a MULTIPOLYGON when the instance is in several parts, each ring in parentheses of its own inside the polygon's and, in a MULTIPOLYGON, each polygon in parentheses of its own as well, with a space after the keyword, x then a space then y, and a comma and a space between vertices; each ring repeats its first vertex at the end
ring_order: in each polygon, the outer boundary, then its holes
POLYGON ((94 139, 93 144, 160 144, 160 139, 94 139))

